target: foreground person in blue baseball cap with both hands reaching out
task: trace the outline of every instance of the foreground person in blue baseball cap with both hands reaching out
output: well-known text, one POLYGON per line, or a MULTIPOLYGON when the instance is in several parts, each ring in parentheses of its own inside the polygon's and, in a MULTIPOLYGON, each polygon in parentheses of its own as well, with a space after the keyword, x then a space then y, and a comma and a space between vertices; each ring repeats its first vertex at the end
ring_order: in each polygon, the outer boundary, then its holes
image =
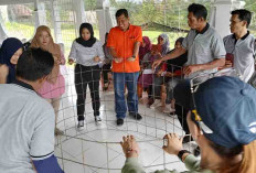
MULTIPOLYGON (((183 150, 182 138, 175 133, 164 136, 168 144, 163 150, 178 155, 189 173, 255 173, 256 89, 238 78, 222 76, 199 85, 192 98, 195 109, 186 121, 201 148, 201 161, 183 150)), ((122 172, 145 172, 138 164, 135 138, 124 137, 121 147, 127 158, 122 172)))

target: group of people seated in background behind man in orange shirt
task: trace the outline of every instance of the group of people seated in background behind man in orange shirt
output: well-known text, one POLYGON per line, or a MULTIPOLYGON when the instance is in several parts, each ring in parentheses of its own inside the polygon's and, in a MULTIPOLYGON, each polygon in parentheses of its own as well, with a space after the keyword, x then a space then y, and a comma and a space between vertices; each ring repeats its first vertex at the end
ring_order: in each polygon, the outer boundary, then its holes
MULTIPOLYGON (((141 75, 138 79, 138 97, 142 97, 142 90, 148 93, 148 107, 154 109, 162 101, 162 85, 166 86, 167 98, 162 106, 163 112, 174 111, 173 88, 183 77, 181 74, 182 66, 188 61, 188 52, 182 54, 180 58, 169 60, 158 68, 152 69, 154 61, 171 53, 169 36, 161 34, 158 36, 158 44, 151 45, 148 36, 142 37, 139 56, 141 60, 141 75)), ((179 48, 184 37, 175 41, 174 48, 179 48)))

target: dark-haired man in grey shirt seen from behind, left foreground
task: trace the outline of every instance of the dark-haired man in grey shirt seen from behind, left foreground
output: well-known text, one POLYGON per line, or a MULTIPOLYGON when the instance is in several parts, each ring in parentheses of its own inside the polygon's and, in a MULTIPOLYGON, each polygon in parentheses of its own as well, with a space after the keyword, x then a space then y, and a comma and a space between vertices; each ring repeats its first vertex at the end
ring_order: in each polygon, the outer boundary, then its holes
POLYGON ((0 85, 0 172, 63 173, 54 156, 55 115, 36 94, 53 65, 51 53, 25 51, 18 61, 17 80, 0 85))

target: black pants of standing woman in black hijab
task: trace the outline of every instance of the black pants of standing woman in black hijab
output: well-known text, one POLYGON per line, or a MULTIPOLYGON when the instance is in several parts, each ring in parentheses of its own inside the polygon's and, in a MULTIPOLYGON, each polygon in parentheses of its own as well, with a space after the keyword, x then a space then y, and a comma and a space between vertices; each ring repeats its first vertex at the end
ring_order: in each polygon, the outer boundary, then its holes
POLYGON ((99 78, 100 69, 98 65, 83 66, 77 64, 75 66, 75 89, 77 94, 76 107, 78 121, 84 120, 87 85, 89 86, 94 116, 99 116, 99 78))

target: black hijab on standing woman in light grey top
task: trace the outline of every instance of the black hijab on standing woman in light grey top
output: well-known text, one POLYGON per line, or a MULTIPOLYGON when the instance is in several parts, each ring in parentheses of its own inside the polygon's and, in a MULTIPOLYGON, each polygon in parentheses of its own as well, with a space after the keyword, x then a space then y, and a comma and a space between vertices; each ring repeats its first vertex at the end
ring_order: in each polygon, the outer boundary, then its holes
POLYGON ((94 45, 94 43, 96 42, 96 37, 94 37, 94 29, 93 29, 92 24, 82 23, 81 26, 79 26, 79 37, 77 37, 75 41, 77 43, 79 43, 81 45, 85 46, 85 47, 92 47, 94 45), (82 37, 83 29, 87 29, 89 31, 89 33, 90 33, 90 37, 87 41, 85 41, 82 37))

